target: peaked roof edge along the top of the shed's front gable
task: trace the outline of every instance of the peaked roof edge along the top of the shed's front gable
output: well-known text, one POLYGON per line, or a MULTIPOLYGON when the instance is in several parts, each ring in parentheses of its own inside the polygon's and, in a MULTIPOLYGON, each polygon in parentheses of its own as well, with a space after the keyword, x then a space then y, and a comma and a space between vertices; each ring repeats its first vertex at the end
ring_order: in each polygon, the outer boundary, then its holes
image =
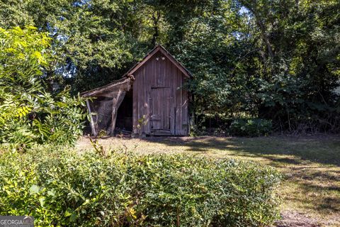
POLYGON ((154 49, 152 49, 149 53, 147 53, 147 55, 140 62, 138 62, 136 65, 134 65, 128 72, 126 72, 123 77, 128 76, 128 75, 132 75, 140 67, 142 67, 142 65, 144 65, 145 62, 147 62, 150 58, 152 58, 152 56, 154 56, 159 51, 162 52, 162 54, 165 57, 167 57, 172 63, 174 63, 174 65, 176 65, 176 67, 178 67, 179 70, 181 70, 181 72, 183 72, 183 74, 186 77, 189 77, 189 78, 191 77, 191 73, 186 69, 186 67, 184 67, 181 64, 181 62, 176 60, 175 57, 172 56, 162 45, 157 45, 156 47, 154 47, 154 49))

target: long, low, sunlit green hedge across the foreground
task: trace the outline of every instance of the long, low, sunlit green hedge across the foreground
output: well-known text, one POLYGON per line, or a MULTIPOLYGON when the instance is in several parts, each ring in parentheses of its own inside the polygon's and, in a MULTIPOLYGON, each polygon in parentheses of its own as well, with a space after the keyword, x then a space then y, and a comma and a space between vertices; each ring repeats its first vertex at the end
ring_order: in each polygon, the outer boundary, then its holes
POLYGON ((0 215, 36 226, 266 226, 280 176, 254 162, 35 148, 0 156, 0 215))

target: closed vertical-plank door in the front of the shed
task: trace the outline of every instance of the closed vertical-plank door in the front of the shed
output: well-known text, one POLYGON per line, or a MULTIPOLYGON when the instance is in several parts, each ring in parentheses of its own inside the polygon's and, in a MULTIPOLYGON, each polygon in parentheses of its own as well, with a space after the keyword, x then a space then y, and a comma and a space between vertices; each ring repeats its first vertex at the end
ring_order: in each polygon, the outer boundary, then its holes
POLYGON ((151 133, 171 134, 171 89, 169 87, 151 89, 151 133))

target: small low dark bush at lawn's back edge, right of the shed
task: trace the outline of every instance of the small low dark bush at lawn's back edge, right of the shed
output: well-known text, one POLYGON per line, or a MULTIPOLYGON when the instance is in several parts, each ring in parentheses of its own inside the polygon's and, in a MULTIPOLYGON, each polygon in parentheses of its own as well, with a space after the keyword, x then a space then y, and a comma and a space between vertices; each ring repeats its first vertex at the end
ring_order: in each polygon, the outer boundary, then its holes
POLYGON ((229 127, 231 135, 240 136, 261 136, 268 135, 272 131, 270 120, 254 118, 254 119, 236 119, 232 121, 229 127))

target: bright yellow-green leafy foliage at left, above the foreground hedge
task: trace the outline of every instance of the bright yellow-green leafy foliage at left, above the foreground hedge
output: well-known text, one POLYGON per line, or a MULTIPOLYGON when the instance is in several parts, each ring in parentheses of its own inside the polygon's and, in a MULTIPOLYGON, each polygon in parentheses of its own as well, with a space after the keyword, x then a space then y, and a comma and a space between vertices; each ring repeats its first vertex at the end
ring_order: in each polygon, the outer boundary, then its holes
POLYGON ((0 28, 0 140, 16 148, 74 143, 82 133, 84 101, 46 91, 50 38, 37 28, 0 28))

